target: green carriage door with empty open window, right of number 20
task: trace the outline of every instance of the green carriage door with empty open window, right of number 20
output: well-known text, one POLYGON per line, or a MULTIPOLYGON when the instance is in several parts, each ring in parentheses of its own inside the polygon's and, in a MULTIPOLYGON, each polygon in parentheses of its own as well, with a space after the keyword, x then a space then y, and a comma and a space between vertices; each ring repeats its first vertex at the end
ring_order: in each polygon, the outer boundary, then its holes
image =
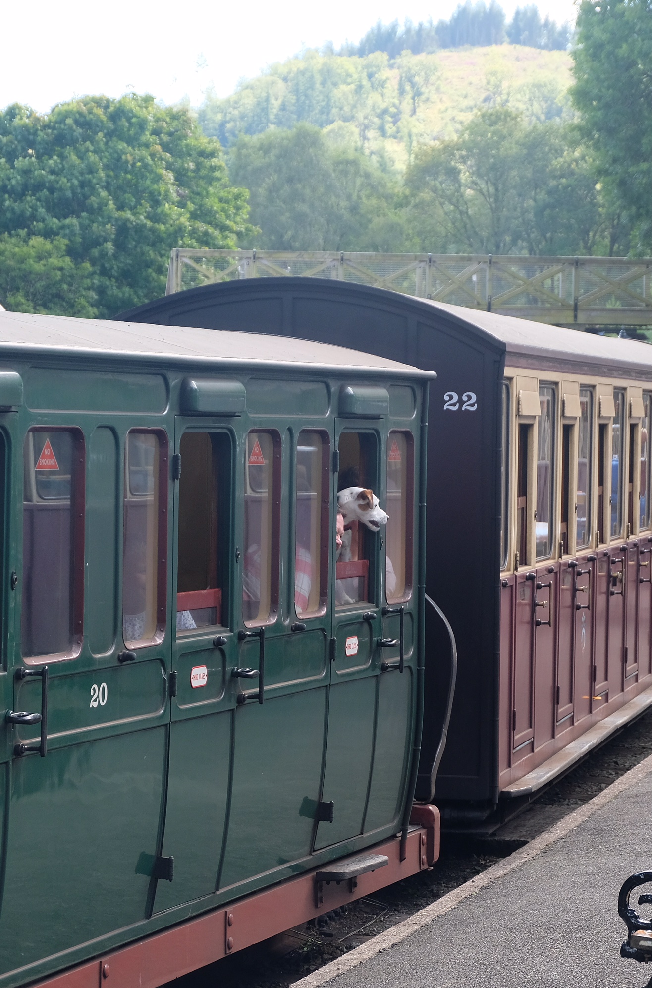
POLYGON ((236 643, 230 610, 235 437, 199 419, 177 419, 172 710, 160 912, 215 890, 229 787, 236 643))

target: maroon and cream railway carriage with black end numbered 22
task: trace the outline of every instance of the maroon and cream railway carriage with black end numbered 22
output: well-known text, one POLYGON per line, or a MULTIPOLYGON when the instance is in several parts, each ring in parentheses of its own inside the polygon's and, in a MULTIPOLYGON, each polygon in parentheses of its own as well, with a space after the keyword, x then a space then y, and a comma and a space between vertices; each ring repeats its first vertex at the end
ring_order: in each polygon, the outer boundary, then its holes
MULTIPOLYGON (((652 703, 652 349, 377 288, 247 279, 120 318, 345 344, 437 371, 417 796, 487 829, 652 703)), ((289 344, 291 345, 291 344, 289 344)))

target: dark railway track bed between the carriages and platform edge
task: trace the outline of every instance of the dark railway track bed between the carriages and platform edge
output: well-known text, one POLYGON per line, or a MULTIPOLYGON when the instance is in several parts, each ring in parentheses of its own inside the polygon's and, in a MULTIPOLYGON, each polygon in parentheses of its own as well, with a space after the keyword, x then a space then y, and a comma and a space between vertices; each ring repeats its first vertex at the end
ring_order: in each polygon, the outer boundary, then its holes
POLYGON ((489 838, 442 835, 441 856, 421 872, 328 915, 324 925, 288 931, 188 974, 175 988, 287 988, 352 947, 377 936, 412 913, 512 854, 567 813, 588 802, 652 752, 652 710, 593 752, 550 786, 519 816, 489 838))

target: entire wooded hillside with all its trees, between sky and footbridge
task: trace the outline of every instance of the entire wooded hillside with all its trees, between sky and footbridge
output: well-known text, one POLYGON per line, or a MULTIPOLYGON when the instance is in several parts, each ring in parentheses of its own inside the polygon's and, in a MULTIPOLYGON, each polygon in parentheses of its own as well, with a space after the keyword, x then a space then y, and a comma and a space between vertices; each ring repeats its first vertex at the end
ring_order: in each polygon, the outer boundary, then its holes
POLYGON ((9 107, 0 303, 111 315, 162 293, 176 246, 649 257, 652 6, 582 0, 563 31, 480 0, 196 112, 9 107))

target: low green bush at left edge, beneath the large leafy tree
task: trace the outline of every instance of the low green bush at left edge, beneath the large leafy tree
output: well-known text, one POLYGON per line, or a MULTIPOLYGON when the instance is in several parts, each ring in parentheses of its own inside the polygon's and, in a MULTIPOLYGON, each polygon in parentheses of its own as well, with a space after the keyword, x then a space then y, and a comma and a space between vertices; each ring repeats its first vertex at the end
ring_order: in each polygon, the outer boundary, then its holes
POLYGON ((75 264, 61 237, 0 234, 0 304, 12 312, 97 314, 91 266, 75 264))

